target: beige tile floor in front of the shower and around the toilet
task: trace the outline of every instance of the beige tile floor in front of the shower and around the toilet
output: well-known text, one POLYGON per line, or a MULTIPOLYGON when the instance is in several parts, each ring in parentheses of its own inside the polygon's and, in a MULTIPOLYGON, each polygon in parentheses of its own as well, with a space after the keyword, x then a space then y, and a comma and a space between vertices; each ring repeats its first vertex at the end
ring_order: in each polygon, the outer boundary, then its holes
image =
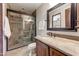
MULTIPOLYGON (((15 50, 7 51, 5 56, 28 56, 29 50, 27 49, 27 46, 21 47, 15 50)), ((33 52, 32 56, 35 56, 35 52, 33 52)))

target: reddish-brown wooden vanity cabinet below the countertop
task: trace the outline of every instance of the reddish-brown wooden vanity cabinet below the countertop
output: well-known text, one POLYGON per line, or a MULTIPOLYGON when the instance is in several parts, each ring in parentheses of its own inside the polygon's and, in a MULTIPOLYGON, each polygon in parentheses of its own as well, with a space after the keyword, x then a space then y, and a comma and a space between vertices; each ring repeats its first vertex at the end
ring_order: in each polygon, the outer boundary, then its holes
POLYGON ((51 48, 39 40, 36 40, 36 54, 37 56, 66 56, 62 52, 51 48))

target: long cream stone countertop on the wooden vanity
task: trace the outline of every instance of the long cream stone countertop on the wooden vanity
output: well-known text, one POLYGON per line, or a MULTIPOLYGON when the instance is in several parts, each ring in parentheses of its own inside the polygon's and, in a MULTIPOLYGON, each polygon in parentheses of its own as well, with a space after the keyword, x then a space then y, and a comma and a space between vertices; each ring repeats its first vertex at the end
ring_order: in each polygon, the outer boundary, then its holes
POLYGON ((79 56, 79 41, 49 36, 36 36, 35 38, 65 54, 79 56))

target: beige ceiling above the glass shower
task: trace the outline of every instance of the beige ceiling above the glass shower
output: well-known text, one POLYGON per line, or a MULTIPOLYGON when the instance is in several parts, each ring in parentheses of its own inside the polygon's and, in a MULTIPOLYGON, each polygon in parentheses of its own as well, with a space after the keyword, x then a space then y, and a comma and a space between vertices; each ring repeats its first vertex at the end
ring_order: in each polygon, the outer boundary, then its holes
POLYGON ((8 3, 8 8, 32 14, 42 3, 8 3))

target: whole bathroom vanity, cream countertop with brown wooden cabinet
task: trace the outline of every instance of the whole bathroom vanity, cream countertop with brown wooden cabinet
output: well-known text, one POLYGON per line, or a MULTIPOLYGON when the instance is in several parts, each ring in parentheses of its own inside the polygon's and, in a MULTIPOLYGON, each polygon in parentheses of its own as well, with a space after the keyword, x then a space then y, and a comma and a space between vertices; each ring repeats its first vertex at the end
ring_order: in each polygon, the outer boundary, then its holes
POLYGON ((60 37, 36 38, 37 56, 77 56, 79 55, 79 41, 60 37))

